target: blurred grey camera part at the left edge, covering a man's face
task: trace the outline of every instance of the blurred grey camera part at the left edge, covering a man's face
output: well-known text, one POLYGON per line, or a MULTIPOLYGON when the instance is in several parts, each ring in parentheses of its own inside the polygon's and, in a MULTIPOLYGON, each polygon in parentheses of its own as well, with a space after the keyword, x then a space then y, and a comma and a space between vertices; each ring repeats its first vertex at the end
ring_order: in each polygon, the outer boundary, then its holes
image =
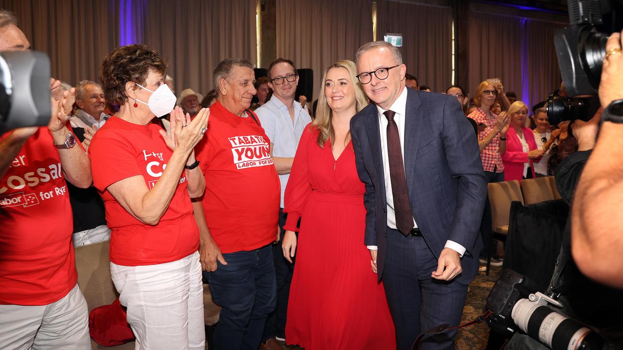
POLYGON ((0 53, 0 135, 50 120, 50 60, 43 52, 0 53))

